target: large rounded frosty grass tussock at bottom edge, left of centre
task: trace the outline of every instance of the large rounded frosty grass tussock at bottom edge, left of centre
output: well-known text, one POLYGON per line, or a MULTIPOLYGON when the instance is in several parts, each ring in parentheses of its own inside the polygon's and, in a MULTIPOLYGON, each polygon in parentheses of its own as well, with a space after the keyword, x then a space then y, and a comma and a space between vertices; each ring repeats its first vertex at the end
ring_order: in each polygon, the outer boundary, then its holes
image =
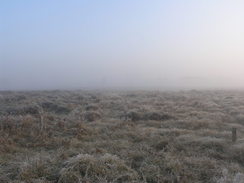
POLYGON ((138 179, 136 171, 111 154, 102 156, 79 154, 70 158, 64 166, 60 171, 59 183, 132 182, 138 179))

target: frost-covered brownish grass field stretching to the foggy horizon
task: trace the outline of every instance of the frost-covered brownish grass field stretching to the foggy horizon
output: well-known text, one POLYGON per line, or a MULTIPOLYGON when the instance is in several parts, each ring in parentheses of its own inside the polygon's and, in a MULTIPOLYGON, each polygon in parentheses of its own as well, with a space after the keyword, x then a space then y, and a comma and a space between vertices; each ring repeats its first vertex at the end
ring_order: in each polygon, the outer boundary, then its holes
POLYGON ((242 183, 243 125, 244 91, 0 92, 0 182, 242 183))

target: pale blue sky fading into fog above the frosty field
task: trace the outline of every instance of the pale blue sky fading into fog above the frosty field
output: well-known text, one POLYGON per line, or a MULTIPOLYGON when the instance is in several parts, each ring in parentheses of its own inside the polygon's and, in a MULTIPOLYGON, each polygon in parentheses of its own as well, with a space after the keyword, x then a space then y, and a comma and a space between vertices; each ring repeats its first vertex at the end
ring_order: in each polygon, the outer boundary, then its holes
POLYGON ((0 90, 242 89, 244 1, 1 1, 0 90))

